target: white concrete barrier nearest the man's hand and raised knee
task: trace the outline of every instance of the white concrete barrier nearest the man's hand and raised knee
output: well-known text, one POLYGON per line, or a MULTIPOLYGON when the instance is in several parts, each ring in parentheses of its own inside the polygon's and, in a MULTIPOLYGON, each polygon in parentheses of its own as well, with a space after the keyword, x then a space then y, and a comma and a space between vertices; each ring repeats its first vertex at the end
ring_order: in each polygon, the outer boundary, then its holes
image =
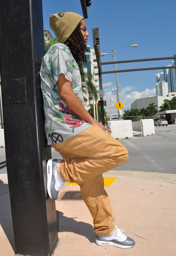
POLYGON ((108 121, 107 127, 112 131, 109 134, 115 139, 133 138, 131 120, 108 121))

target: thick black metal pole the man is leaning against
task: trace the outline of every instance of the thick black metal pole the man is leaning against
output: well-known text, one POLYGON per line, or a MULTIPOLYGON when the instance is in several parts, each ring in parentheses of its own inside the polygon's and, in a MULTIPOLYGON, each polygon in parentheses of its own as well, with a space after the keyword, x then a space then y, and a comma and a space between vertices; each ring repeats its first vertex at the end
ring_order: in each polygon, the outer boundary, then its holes
POLYGON ((42 0, 0 0, 0 66, 15 254, 51 255, 57 245, 55 201, 46 190, 40 65, 42 0))

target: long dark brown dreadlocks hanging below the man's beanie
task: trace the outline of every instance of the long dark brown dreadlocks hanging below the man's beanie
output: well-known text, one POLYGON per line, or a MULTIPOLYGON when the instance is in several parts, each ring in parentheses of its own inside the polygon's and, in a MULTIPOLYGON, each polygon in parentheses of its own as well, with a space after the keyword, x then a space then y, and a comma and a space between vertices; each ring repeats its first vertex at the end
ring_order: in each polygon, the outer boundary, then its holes
POLYGON ((86 62, 86 55, 85 51, 86 46, 84 42, 84 37, 82 36, 82 33, 80 31, 81 22, 78 24, 78 26, 75 28, 73 33, 69 36, 69 38, 64 42, 65 45, 67 45, 73 55, 73 58, 77 63, 79 62, 86 62))

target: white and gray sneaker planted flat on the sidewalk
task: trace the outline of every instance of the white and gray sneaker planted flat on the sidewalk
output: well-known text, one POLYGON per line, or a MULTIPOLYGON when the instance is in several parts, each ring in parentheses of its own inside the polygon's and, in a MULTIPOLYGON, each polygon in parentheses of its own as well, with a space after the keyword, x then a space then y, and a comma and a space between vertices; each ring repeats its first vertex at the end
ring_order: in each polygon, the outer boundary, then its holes
POLYGON ((96 235, 96 244, 102 246, 116 246, 119 248, 131 248, 135 245, 135 241, 124 235, 124 229, 119 229, 117 226, 114 234, 109 237, 100 237, 96 235), (121 232, 122 231, 122 232, 121 232))

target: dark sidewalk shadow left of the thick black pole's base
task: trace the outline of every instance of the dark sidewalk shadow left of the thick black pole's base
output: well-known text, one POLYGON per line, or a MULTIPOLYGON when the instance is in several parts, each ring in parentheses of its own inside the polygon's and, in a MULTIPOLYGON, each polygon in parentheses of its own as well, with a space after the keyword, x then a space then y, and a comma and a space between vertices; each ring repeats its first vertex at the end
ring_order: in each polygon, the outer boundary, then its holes
POLYGON ((8 184, 4 183, 2 180, 0 180, 0 213, 1 227, 6 234, 12 249, 15 251, 10 211, 9 187, 8 184))

